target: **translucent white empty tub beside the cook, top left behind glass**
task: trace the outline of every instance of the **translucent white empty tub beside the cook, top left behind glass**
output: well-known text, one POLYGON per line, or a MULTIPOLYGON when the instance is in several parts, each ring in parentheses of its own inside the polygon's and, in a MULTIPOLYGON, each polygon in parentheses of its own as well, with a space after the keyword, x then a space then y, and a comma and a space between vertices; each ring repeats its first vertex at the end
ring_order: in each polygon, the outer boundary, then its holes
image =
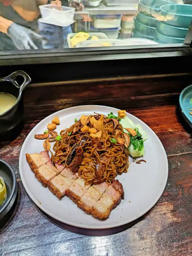
POLYGON ((52 21, 64 27, 73 23, 75 8, 56 5, 40 5, 39 8, 44 21, 52 21))

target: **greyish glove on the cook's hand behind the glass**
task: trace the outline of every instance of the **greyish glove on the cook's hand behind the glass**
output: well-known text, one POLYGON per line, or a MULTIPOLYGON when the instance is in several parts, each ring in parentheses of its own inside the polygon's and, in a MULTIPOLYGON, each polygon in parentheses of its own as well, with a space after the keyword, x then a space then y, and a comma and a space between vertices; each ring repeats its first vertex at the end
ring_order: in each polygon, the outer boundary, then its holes
POLYGON ((32 30, 16 23, 10 25, 7 35, 12 39, 13 43, 19 50, 38 49, 34 44, 33 39, 39 42, 42 40, 41 35, 38 35, 32 30))

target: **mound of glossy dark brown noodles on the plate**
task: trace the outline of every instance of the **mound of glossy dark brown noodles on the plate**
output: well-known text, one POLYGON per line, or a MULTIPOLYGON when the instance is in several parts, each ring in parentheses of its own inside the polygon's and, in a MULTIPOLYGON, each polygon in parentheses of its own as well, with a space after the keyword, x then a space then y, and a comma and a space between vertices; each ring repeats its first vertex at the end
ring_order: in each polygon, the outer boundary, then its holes
MULTIPOLYGON (((95 117, 100 118, 100 116, 95 117)), ((93 127, 90 123, 88 126, 93 127)), ((78 170, 79 176, 86 179, 86 184, 88 182, 98 184, 104 181, 111 184, 118 173, 127 172, 129 166, 129 152, 126 148, 118 143, 111 143, 111 138, 115 138, 117 130, 119 131, 118 136, 124 139, 122 126, 119 122, 115 126, 114 120, 104 118, 102 136, 98 139, 99 144, 91 143, 93 138, 90 137, 89 132, 81 132, 81 127, 83 125, 79 120, 78 124, 75 123, 60 132, 61 140, 56 141, 53 145, 55 154, 51 152, 51 160, 59 164, 66 163, 66 158, 74 144, 78 143, 79 145, 81 138, 86 137, 86 142, 75 149, 76 155, 83 152, 83 160, 78 170), (79 125, 79 130, 73 134, 77 125, 79 125)))

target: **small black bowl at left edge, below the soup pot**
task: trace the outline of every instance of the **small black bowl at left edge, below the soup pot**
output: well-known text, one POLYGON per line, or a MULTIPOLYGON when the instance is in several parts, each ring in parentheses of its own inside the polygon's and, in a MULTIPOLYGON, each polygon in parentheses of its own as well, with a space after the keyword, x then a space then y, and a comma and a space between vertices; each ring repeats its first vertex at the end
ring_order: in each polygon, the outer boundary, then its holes
POLYGON ((8 213, 17 196, 17 180, 13 168, 0 159, 0 176, 7 187, 7 199, 0 205, 0 220, 8 213))

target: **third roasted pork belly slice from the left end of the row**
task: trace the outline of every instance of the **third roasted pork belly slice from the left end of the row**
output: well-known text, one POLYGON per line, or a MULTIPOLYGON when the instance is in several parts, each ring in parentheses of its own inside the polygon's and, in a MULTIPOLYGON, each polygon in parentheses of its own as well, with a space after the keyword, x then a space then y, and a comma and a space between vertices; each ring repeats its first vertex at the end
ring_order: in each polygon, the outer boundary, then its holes
POLYGON ((63 177, 59 174, 48 182, 48 188, 58 199, 61 199, 72 183, 73 179, 63 177))

